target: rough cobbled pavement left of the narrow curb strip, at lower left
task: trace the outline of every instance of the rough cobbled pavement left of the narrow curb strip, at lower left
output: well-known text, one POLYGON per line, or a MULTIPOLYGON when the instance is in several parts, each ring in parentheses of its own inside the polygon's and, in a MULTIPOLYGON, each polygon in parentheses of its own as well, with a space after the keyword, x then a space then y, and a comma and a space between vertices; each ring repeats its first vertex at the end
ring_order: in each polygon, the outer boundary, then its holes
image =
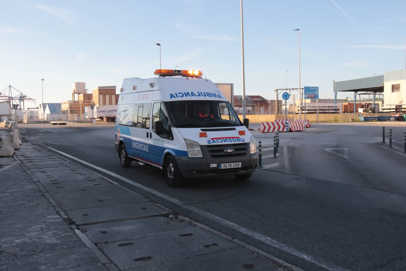
POLYGON ((13 157, 0 165, 0 270, 106 270, 13 157))

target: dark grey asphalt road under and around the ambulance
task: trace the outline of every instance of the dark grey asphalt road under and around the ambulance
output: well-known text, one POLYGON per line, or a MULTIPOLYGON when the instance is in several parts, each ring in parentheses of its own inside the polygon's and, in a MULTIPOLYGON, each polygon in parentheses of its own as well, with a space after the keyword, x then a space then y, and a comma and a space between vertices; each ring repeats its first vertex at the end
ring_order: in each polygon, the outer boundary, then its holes
POLYGON ((381 143, 382 124, 319 124, 318 130, 281 133, 276 159, 274 134, 253 132, 266 158, 249 182, 189 180, 177 189, 158 168, 134 162, 122 168, 113 125, 19 127, 30 141, 158 191, 168 197, 85 165, 303 269, 405 270, 406 125, 384 125, 386 142, 393 129, 393 148, 381 143))

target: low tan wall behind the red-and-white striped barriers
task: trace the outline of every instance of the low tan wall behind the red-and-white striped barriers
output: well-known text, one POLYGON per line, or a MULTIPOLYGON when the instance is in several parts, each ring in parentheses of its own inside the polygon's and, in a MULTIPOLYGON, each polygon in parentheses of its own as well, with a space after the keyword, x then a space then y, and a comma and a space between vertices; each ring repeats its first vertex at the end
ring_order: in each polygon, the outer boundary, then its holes
MULTIPOLYGON (((363 117, 369 116, 391 116, 392 113, 376 113, 376 114, 369 114, 363 113, 361 114, 363 117)), ((238 115, 241 121, 242 115, 238 115)), ((250 123, 260 123, 260 122, 270 122, 274 121, 275 119, 284 119, 285 115, 246 115, 246 118, 250 120, 250 123)), ((339 121, 349 121, 350 118, 355 119, 355 121, 359 120, 358 114, 348 113, 348 114, 319 114, 319 121, 320 122, 339 122, 339 121)), ((287 115, 287 119, 292 119, 292 115, 287 115)), ((295 115, 295 119, 299 119, 299 115, 295 115)), ((302 114, 302 119, 304 119, 304 114, 302 114)), ((306 119, 309 119, 311 122, 317 121, 317 114, 306 114, 306 119)))

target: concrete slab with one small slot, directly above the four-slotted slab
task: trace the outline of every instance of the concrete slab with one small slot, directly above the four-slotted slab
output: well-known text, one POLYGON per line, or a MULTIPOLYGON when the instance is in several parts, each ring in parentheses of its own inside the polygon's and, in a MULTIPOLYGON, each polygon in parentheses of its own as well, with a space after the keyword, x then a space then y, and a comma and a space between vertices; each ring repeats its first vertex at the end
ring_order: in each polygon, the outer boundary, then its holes
POLYGON ((196 226, 186 221, 171 220, 168 217, 149 217, 81 226, 79 230, 83 231, 95 243, 112 243, 175 230, 187 232, 193 228, 196 226))

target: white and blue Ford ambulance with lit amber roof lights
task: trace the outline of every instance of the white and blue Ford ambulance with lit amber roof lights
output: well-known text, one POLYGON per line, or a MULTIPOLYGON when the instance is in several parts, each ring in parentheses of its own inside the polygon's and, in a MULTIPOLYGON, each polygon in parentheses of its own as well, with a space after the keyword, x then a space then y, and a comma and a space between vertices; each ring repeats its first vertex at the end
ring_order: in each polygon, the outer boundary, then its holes
POLYGON ((169 186, 184 178, 234 175, 247 180, 258 164, 248 119, 200 71, 156 70, 159 77, 125 78, 117 104, 115 148, 132 161, 162 169, 169 186))

